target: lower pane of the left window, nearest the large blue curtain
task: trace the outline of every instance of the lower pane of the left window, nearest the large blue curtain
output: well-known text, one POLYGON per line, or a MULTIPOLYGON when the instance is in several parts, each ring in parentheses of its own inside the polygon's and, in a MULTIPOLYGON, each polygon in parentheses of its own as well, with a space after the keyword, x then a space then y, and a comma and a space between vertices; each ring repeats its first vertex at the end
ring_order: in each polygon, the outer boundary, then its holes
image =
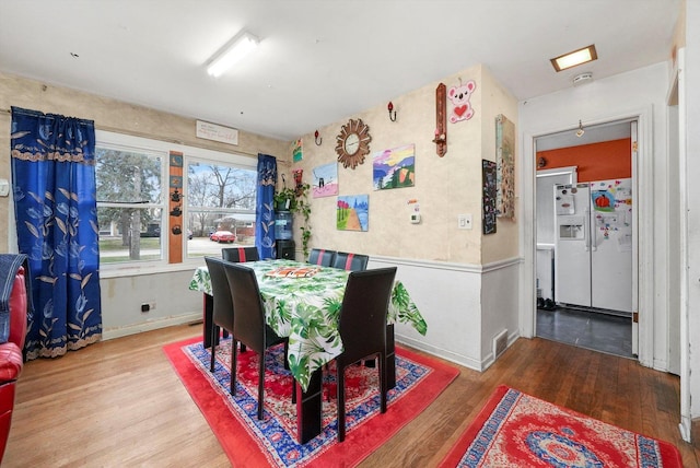
POLYGON ((100 261, 160 260, 160 208, 97 208, 100 261))

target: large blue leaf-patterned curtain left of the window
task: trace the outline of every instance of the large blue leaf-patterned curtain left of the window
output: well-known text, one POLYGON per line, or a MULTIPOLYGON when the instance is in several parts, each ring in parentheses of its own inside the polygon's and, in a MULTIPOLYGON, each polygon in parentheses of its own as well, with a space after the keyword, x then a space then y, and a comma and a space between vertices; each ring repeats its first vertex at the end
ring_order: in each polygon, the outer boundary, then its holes
POLYGON ((55 358, 102 337, 92 120, 12 107, 12 185, 34 314, 27 359, 55 358))

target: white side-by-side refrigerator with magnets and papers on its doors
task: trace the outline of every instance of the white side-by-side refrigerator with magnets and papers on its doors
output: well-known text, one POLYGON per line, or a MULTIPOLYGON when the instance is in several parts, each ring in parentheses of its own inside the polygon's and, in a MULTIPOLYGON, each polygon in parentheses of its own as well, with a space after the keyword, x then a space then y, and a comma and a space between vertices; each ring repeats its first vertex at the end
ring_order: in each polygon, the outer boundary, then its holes
POLYGON ((555 300, 632 312, 632 180, 555 186, 555 300))

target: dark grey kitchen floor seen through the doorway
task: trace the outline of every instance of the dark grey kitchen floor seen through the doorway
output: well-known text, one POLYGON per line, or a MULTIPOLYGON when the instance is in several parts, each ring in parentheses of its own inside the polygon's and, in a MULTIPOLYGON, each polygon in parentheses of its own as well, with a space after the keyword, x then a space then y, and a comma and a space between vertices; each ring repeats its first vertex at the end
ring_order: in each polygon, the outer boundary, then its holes
POLYGON ((562 307, 553 311, 538 308, 537 336, 622 358, 634 358, 630 317, 562 307))

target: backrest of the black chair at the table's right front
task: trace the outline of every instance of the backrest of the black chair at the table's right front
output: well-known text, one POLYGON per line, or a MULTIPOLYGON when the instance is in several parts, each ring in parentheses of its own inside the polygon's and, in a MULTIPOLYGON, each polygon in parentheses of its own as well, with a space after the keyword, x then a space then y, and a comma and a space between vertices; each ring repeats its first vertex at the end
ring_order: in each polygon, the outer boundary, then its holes
POLYGON ((346 363, 386 346, 386 314, 395 278, 396 267, 353 271, 348 277, 338 325, 346 363))

